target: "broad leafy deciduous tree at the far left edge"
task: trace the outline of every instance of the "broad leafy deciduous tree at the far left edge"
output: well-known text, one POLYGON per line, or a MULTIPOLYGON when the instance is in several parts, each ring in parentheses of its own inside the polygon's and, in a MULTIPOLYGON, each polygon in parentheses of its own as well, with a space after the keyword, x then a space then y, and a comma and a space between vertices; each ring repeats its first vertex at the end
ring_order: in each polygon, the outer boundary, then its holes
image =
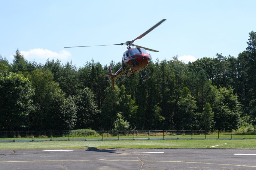
POLYGON ((29 79, 22 74, 0 76, 0 129, 17 130, 30 126, 29 115, 35 112, 35 95, 29 79))

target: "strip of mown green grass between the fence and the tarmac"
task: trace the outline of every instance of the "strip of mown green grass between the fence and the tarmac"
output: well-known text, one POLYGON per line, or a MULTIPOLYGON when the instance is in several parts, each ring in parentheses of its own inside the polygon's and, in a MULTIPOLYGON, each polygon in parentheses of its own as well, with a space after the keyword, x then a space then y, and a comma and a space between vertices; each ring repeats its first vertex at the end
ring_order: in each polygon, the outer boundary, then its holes
POLYGON ((255 139, 244 140, 115 140, 2 142, 0 149, 78 149, 96 148, 242 148, 256 149, 255 139), (226 143, 226 144, 224 144, 226 143), (224 145, 222 145, 224 144, 224 145), (219 145, 219 146, 216 146, 219 145))

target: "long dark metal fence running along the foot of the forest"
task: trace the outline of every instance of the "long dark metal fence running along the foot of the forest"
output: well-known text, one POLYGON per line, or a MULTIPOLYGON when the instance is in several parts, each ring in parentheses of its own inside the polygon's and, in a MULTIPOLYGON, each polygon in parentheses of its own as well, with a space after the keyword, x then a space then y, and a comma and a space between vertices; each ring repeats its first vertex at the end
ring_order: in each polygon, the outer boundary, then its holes
POLYGON ((0 142, 44 140, 178 140, 178 139, 256 139, 256 132, 237 131, 95 131, 73 134, 71 131, 0 131, 0 142))

